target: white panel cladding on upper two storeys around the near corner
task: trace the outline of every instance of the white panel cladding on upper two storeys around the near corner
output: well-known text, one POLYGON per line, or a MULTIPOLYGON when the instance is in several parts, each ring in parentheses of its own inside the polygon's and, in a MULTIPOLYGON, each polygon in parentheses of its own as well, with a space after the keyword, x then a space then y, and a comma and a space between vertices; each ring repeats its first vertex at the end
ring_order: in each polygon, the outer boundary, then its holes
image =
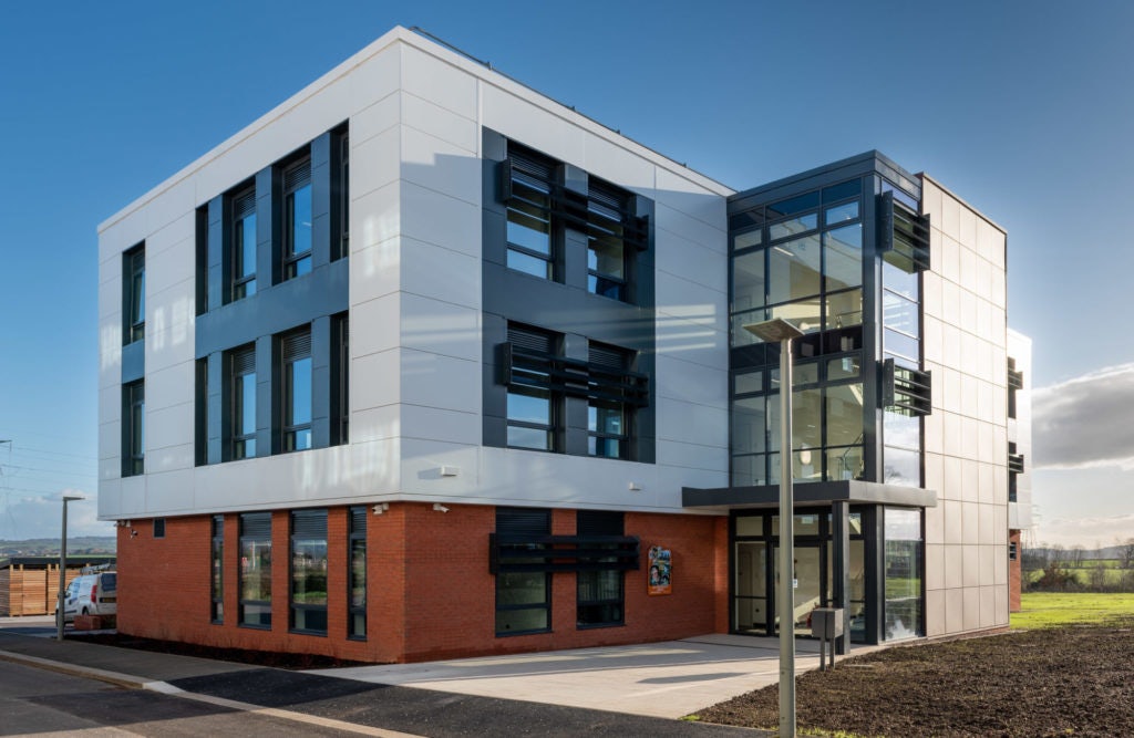
POLYGON ((100 516, 435 499, 680 510, 727 484, 729 190, 395 29, 100 230, 100 516), (193 466, 195 209, 350 125, 350 443, 193 466), (481 127, 655 203, 657 464, 481 446, 481 127), (146 243, 146 474, 119 478, 121 254, 146 243), (441 476, 439 468, 458 469, 441 476), (631 489, 631 487, 635 489, 631 489))

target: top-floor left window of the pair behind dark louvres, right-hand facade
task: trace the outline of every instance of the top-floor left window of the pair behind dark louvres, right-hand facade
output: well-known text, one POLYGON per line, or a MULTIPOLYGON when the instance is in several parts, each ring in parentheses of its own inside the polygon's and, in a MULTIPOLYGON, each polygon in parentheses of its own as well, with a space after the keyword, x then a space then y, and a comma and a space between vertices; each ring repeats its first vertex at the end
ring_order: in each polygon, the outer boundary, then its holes
POLYGON ((551 194, 556 164, 534 151, 508 146, 508 268, 556 279, 551 194))

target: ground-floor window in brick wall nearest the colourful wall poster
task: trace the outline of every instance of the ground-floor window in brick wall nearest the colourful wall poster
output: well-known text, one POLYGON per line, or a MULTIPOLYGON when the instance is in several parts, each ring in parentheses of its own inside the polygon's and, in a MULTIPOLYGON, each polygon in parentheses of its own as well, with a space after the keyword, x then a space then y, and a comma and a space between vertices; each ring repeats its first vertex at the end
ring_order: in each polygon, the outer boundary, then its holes
MULTIPOLYGON (((606 550, 613 544, 594 541, 592 536, 621 536, 623 514, 598 510, 579 510, 575 521, 579 549, 606 550), (590 538, 590 540, 589 540, 590 538)), ((582 557, 581 557, 582 559, 582 557)), ((599 557, 594 566, 616 563, 617 558, 599 557)), ((625 575, 621 569, 584 570, 576 578, 576 622, 579 628, 623 625, 625 575)))

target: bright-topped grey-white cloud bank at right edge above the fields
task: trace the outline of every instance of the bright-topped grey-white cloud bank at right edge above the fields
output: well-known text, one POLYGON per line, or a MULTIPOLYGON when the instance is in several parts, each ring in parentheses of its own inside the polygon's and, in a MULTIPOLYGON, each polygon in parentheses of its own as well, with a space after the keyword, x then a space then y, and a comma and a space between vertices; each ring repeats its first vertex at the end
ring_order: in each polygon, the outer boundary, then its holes
POLYGON ((1032 392, 1036 468, 1134 469, 1134 364, 1092 372, 1032 392))

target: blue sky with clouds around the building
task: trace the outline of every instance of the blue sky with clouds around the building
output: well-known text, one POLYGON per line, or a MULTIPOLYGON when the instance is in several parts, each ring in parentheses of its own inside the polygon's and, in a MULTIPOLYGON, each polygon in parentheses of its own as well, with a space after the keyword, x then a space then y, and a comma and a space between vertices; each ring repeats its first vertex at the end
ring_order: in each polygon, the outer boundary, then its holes
POLYGON ((1009 321, 1050 388, 1036 537, 1134 535, 1134 248, 1112 226, 1134 192, 1134 5, 9 5, 0 538, 51 535, 42 498, 96 491, 98 223, 396 24, 736 188, 879 149, 976 205, 1009 232, 1009 321), (1068 389, 1085 400, 1056 402, 1068 389))

